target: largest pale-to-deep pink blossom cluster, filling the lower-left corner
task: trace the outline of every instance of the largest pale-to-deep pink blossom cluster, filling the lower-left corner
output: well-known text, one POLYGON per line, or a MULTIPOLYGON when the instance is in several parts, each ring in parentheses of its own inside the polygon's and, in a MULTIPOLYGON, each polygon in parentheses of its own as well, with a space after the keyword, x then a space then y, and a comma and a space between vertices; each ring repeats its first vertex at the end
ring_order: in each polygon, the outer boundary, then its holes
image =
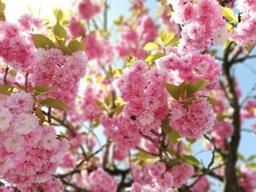
POLYGON ((44 188, 69 149, 67 139, 56 139, 53 126, 39 126, 33 104, 24 91, 0 102, 0 174, 22 191, 44 188))

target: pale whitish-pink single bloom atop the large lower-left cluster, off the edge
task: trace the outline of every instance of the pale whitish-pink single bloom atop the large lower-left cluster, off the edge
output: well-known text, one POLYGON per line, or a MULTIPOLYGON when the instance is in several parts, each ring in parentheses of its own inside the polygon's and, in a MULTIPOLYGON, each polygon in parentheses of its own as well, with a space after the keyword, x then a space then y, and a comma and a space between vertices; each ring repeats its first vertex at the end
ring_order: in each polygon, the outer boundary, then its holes
POLYGON ((34 115, 22 113, 14 123, 14 131, 18 134, 29 134, 38 126, 38 119, 34 115))

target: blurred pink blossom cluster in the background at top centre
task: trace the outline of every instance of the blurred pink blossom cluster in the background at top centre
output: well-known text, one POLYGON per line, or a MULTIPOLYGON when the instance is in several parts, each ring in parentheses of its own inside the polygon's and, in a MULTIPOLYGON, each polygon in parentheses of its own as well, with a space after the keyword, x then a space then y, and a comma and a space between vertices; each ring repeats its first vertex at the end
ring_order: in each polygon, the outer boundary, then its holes
POLYGON ((121 40, 116 45, 116 51, 121 58, 129 55, 139 59, 145 58, 147 53, 143 50, 143 46, 157 39, 158 29, 154 20, 143 14, 137 19, 136 28, 132 28, 129 23, 124 23, 123 31, 120 33, 121 40))

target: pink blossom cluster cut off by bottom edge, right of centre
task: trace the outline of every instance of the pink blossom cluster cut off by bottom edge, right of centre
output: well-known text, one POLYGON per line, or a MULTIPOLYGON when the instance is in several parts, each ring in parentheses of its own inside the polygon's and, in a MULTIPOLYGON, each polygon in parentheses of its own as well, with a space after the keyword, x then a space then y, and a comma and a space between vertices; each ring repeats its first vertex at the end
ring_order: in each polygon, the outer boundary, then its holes
POLYGON ((173 191, 173 187, 180 188, 187 183, 194 174, 194 168, 190 164, 182 163, 172 166, 170 169, 162 162, 146 164, 144 169, 132 166, 132 174, 135 183, 132 184, 132 192, 139 191, 173 191))

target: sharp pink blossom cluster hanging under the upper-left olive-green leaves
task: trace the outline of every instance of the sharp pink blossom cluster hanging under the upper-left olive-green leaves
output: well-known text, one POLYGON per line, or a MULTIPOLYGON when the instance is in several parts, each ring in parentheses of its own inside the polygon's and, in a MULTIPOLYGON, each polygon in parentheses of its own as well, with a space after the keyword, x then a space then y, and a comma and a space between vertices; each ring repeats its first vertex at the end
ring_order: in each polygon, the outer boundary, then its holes
POLYGON ((64 55, 59 49, 39 48, 32 80, 34 85, 53 88, 48 96, 71 104, 78 93, 78 82, 85 75, 86 64, 87 57, 82 51, 64 55))

